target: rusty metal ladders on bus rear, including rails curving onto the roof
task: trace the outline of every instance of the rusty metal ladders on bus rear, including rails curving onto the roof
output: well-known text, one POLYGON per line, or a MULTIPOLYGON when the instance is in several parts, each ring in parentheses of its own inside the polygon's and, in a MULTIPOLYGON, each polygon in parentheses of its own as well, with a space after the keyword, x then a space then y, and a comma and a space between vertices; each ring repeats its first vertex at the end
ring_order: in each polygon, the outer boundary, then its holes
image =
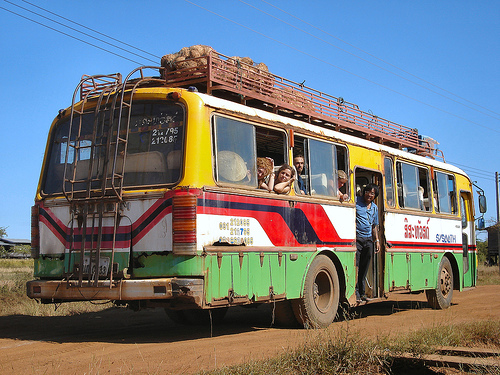
MULTIPOLYGON (((66 199, 72 204, 71 207, 71 235, 70 235, 70 260, 71 255, 74 250, 76 250, 80 257, 79 266, 76 268, 78 276, 78 286, 83 286, 84 281, 86 285, 89 286, 99 286, 100 275, 100 261, 101 252, 103 250, 111 251, 111 259, 108 265, 107 280, 109 280, 109 287, 113 285, 113 274, 114 270, 114 256, 115 256, 115 243, 116 234, 119 228, 121 219, 121 205, 123 203, 122 191, 124 183, 124 173, 125 173, 125 158, 126 158, 126 148, 128 142, 128 131, 130 127, 131 109, 132 109, 132 98, 135 90, 141 84, 147 84, 152 81, 154 82, 164 82, 158 78, 151 78, 144 76, 145 69, 162 70, 163 68, 143 66, 133 70, 121 83, 121 76, 119 74, 111 76, 92 76, 84 77, 80 82, 79 86, 75 90, 73 96, 73 102, 71 106, 71 120, 68 130, 68 140, 71 140, 72 128, 75 123, 75 118, 78 119, 77 125, 77 137, 74 140, 74 144, 70 145, 68 142, 67 154, 70 147, 74 148, 73 157, 73 168, 72 175, 67 175, 67 164, 68 156, 65 158, 65 168, 64 168, 64 178, 63 178, 63 192, 66 199), (140 73, 140 78, 132 82, 131 77, 136 73, 140 73), (96 79, 104 79, 104 84, 96 84, 96 79), (90 82, 90 83, 89 83, 90 82), (75 97, 77 92, 80 90, 80 100, 82 101, 81 108, 75 108, 75 97), (128 97, 125 93, 128 93, 128 97), (92 132, 92 141, 89 144, 81 145, 81 128, 82 120, 85 114, 90 112, 85 111, 85 105, 90 97, 95 97, 99 95, 97 100, 97 105, 94 110, 94 125, 92 132), (103 100, 105 99, 105 104, 103 107, 103 100), (119 101, 119 107, 117 102, 119 101), (102 110, 104 108, 104 110, 102 110), (117 118, 115 119, 116 110, 118 110, 117 118), (126 113, 124 113, 124 110, 126 113), (105 124, 106 124, 106 114, 109 114, 107 120, 108 123, 108 136, 104 137, 106 134, 105 124), (125 119, 126 118, 126 119, 125 119), (125 120, 124 120, 125 119, 125 120), (116 126, 114 126, 116 124, 116 126), (112 137, 113 133, 116 132, 116 137, 112 137), (101 148, 104 146, 103 138, 106 138, 106 147, 104 156, 99 154, 101 148), (89 165, 87 178, 82 180, 77 179, 76 172, 78 168, 78 162, 80 160, 80 150, 90 149, 89 155, 89 165), (98 157, 96 157, 98 156, 98 157), (118 161, 121 161, 121 168, 118 168, 118 161), (97 164, 95 164, 97 162, 97 164), (95 167, 94 167, 95 166, 95 167), (119 169, 119 170, 117 170, 119 169), (99 177, 99 173, 101 176, 99 177), (94 176, 95 174, 95 176, 94 176), (70 178, 68 178, 70 177, 70 178), (66 183, 69 183, 71 187, 70 191, 66 190, 66 183), (76 184, 86 184, 85 195, 79 196, 78 192, 75 191, 76 184), (95 187, 98 187, 97 189, 95 187), (86 245, 87 241, 87 222, 91 218, 91 231, 90 234, 90 246, 86 245), (112 220, 112 246, 105 248, 103 246, 103 222, 105 218, 111 218, 112 220), (79 232, 81 233, 81 241, 79 249, 75 248, 75 221, 78 225, 79 232), (94 231, 97 222, 97 235, 94 231), (95 238, 96 237, 96 238, 95 238), (88 249, 87 249, 88 248, 88 249), (88 269, 84 266, 85 251, 89 253, 88 257, 88 269), (87 275, 86 280, 84 280, 84 275, 87 275)), ((109 236, 109 235, 108 235, 109 236)), ((132 238, 130 238, 132 241, 132 238)), ((71 263, 71 262, 70 262, 71 263)), ((74 272, 71 276, 74 276, 74 272)), ((68 278, 69 280, 69 278, 68 278)))

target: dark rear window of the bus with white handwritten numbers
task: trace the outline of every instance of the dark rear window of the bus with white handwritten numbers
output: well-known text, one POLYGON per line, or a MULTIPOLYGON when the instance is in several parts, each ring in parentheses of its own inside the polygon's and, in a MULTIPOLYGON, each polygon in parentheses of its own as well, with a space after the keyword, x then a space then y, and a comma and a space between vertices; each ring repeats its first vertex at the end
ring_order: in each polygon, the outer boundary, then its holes
POLYGON ((64 184, 66 191, 102 189, 103 184, 109 186, 113 170, 115 174, 123 171, 123 187, 169 185, 179 180, 184 108, 172 102, 134 102, 128 127, 128 111, 122 113, 118 143, 117 117, 118 110, 112 121, 109 111, 97 116, 92 111, 75 115, 71 126, 69 118, 56 124, 42 183, 44 194, 62 193, 64 184), (103 178, 105 171, 107 178, 103 178))

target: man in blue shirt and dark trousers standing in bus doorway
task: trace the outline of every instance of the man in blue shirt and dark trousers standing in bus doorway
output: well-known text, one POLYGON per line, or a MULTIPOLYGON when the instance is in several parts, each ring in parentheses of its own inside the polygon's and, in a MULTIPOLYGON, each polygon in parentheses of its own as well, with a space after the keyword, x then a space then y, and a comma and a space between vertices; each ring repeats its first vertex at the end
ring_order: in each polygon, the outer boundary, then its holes
POLYGON ((365 279, 373 254, 380 251, 378 238, 378 207, 373 202, 379 193, 378 186, 368 184, 363 195, 356 199, 356 266, 358 282, 356 284, 356 301, 368 301, 365 294, 365 279))

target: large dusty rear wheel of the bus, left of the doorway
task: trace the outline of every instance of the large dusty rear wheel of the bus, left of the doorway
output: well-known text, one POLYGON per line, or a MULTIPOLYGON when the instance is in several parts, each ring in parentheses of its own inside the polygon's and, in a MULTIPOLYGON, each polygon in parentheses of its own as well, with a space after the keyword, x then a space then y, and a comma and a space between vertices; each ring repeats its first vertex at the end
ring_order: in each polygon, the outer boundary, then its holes
POLYGON ((304 282, 303 297, 293 300, 297 320, 305 328, 328 327, 337 315, 340 283, 333 262, 326 255, 318 255, 304 282))

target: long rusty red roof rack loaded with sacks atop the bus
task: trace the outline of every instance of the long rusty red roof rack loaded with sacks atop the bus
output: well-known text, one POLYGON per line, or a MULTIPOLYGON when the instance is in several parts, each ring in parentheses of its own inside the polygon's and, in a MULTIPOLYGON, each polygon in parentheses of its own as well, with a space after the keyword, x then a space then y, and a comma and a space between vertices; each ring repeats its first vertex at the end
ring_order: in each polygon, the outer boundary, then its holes
POLYGON ((287 80, 239 58, 210 50, 182 62, 164 63, 163 68, 169 87, 195 86, 200 92, 444 161, 438 143, 419 136, 417 129, 362 111, 341 97, 287 80))

